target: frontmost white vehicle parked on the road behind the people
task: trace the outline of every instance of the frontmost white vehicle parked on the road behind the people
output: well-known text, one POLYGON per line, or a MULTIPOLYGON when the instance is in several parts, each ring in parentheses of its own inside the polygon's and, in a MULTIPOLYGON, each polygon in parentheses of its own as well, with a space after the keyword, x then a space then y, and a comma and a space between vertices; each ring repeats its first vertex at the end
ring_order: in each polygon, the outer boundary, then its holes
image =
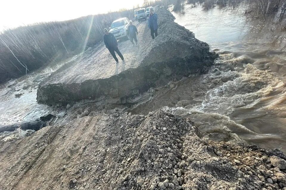
POLYGON ((129 26, 129 19, 128 18, 119 18, 116 21, 113 21, 111 24, 109 32, 111 32, 116 40, 119 40, 121 38, 127 38, 127 28, 129 26))

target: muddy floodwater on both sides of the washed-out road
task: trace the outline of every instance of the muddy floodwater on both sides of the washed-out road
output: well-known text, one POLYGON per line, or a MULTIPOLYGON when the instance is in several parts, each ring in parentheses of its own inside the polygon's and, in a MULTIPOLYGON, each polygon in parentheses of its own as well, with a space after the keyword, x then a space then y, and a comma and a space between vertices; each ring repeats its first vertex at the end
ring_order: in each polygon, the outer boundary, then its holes
MULTIPOLYGON (((248 142, 285 153, 285 32, 273 29, 272 21, 246 20, 241 9, 204 11, 185 5, 184 14, 173 13, 175 22, 209 43, 219 59, 206 74, 178 78, 156 89, 149 101, 112 109, 148 114, 163 108, 189 117, 212 139, 248 142)), ((36 92, 41 80, 62 64, 4 84, 0 125, 60 114, 61 110, 38 104, 36 92)))

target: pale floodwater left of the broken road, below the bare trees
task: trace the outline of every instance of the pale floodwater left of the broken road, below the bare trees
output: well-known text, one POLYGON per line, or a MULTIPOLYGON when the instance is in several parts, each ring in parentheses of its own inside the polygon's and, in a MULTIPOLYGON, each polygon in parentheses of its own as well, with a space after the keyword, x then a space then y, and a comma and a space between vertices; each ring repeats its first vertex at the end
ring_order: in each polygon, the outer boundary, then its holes
POLYGON ((35 120, 55 109, 37 103, 38 84, 65 62, 50 64, 26 76, 2 84, 0 88, 0 125, 35 120), (16 96, 19 96, 18 98, 16 96))

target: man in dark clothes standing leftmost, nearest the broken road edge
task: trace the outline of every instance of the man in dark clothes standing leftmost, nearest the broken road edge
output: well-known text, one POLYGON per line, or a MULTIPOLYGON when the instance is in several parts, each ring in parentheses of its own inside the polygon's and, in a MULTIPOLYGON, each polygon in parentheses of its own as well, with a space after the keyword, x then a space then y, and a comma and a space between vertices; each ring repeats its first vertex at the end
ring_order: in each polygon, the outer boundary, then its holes
POLYGON ((118 43, 117 43, 115 36, 112 33, 109 33, 106 28, 103 29, 103 31, 104 31, 103 40, 104 40, 105 46, 109 50, 113 58, 115 59, 116 63, 118 63, 118 59, 114 51, 116 51, 116 53, 119 55, 122 61, 124 61, 123 55, 120 53, 118 49, 118 43))

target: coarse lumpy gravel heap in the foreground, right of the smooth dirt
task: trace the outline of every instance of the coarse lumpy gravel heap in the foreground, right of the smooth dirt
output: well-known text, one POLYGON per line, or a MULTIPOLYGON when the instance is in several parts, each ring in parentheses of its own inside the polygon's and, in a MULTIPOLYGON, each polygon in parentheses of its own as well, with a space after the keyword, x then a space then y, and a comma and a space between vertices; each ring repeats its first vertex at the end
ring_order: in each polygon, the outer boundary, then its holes
POLYGON ((110 136, 117 140, 107 138, 104 145, 109 147, 106 153, 113 153, 114 162, 94 164, 96 182, 89 182, 91 189, 260 190, 286 186, 286 161, 281 152, 209 141, 190 120, 178 115, 125 113, 112 117, 109 125, 116 131, 110 136))

